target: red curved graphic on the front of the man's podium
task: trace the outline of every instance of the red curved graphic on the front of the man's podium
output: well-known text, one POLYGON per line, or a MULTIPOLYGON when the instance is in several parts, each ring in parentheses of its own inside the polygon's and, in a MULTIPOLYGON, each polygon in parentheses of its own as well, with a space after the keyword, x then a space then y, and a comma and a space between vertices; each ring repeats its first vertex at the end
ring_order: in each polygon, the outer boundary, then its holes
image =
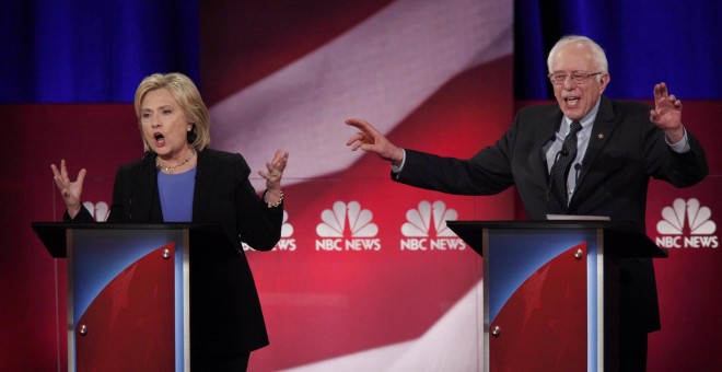
POLYGON ((586 243, 542 266, 489 330, 491 371, 586 370, 586 243), (581 249, 582 257, 574 254, 581 249), (499 327, 499 335, 491 330, 499 327))

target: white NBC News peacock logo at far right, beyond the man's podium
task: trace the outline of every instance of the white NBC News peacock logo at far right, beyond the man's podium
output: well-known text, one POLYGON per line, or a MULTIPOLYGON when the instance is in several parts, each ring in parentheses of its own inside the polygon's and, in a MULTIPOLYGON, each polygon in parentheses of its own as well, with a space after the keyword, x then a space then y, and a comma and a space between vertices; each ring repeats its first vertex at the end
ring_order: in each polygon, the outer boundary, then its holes
POLYGON ((656 223, 656 245, 663 248, 717 248, 712 211, 699 200, 675 199, 662 209, 662 220, 656 223))

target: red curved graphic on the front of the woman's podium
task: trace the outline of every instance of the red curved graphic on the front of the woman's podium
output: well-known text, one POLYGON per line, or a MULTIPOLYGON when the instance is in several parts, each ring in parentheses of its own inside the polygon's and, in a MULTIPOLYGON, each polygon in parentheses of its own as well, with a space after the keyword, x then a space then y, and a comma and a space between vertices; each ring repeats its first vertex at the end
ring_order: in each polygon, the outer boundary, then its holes
POLYGON ((78 371, 175 370, 174 252, 141 257, 93 300, 74 329, 78 371))

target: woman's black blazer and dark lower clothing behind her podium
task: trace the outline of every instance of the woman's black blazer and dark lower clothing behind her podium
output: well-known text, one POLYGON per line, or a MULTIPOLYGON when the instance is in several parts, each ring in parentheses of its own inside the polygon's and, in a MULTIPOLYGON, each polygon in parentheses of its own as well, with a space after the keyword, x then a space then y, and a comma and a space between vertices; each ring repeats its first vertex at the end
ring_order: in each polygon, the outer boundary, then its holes
MULTIPOLYGON (((120 166, 107 222, 163 222, 155 154, 120 166)), ((235 247, 222 256, 213 247, 191 257, 190 345, 194 358, 234 358, 268 345, 258 293, 241 241, 258 251, 280 239, 282 207, 268 208, 248 181, 243 156, 198 152, 193 221, 219 223, 235 247), (201 357, 202 356, 202 357, 201 357)), ((74 221, 92 221, 82 209, 74 221)), ((190 242, 191 252, 198 247, 190 242)), ((193 254, 193 253, 191 253, 193 254)))

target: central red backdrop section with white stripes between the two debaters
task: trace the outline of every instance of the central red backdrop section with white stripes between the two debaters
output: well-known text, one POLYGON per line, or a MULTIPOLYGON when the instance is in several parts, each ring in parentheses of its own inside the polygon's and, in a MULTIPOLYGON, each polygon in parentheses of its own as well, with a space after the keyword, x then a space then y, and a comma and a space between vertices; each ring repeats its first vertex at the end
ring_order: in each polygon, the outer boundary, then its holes
POLYGON ((491 144, 513 111, 511 4, 340 1, 291 14, 201 5, 214 146, 258 165, 291 153, 287 233, 276 252, 247 252, 272 345, 252 369, 478 370, 480 258, 444 221, 513 219, 513 194, 396 185, 388 164, 345 146, 343 119, 453 156, 491 144))

